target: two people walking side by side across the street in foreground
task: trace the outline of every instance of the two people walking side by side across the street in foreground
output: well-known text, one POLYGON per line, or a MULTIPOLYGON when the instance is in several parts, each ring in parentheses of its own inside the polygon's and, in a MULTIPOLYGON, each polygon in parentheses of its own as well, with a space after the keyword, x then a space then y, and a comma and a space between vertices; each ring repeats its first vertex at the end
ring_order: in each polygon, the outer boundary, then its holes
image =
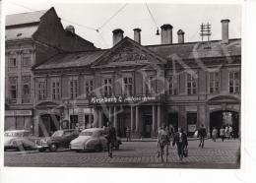
POLYGON ((160 127, 158 135, 158 156, 163 161, 163 154, 165 153, 166 161, 168 157, 168 146, 172 139, 172 147, 176 145, 179 159, 182 161, 183 157, 186 156, 187 151, 187 135, 183 132, 183 128, 178 128, 178 132, 174 133, 173 130, 168 130, 168 127, 160 127))

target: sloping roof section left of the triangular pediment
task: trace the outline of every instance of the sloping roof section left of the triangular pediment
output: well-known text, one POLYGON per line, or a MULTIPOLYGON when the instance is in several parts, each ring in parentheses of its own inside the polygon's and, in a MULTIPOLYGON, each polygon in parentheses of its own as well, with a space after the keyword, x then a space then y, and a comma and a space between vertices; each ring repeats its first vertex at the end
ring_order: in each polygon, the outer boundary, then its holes
POLYGON ((96 59, 99 58, 105 51, 106 50, 60 53, 50 58, 45 63, 38 65, 34 69, 59 69, 88 66, 95 62, 96 59))

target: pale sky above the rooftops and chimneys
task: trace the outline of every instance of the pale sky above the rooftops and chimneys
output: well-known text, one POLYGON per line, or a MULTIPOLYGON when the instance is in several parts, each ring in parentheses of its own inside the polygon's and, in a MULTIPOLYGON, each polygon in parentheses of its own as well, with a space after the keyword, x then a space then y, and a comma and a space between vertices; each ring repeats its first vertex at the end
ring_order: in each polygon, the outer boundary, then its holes
POLYGON ((54 7, 64 28, 73 25, 77 34, 95 43, 99 48, 112 46, 112 30, 115 29, 122 29, 124 36, 133 38, 133 29, 140 28, 143 45, 160 44, 160 35, 156 35, 156 31, 163 24, 172 25, 173 43, 177 42, 177 30, 180 29, 185 31, 185 42, 201 40, 199 33, 202 23, 211 24, 212 40, 221 39, 223 19, 230 20, 229 37, 241 37, 239 4, 147 3, 147 5, 154 18, 151 17, 145 3, 64 3, 56 0, 42 3, 10 0, 5 2, 4 11, 5 15, 9 15, 54 7))

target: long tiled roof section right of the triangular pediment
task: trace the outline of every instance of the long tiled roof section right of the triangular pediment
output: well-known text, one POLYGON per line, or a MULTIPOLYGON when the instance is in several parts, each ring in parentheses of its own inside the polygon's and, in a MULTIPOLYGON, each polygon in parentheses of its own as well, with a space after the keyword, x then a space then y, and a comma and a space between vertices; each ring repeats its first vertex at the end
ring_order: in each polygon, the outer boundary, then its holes
POLYGON ((229 39, 228 44, 222 44, 222 40, 213 40, 209 43, 187 42, 146 47, 167 59, 175 58, 176 56, 181 59, 196 59, 241 55, 241 39, 229 39))

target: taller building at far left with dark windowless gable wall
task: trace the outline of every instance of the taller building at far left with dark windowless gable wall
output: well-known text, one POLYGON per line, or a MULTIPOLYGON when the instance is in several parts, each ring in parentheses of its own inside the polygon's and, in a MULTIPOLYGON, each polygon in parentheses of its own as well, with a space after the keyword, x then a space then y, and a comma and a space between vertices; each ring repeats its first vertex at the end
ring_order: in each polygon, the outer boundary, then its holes
POLYGON ((62 52, 95 49, 92 42, 75 33, 74 27, 63 29, 54 8, 7 16, 5 130, 29 129, 33 132, 36 101, 32 66, 62 52))

